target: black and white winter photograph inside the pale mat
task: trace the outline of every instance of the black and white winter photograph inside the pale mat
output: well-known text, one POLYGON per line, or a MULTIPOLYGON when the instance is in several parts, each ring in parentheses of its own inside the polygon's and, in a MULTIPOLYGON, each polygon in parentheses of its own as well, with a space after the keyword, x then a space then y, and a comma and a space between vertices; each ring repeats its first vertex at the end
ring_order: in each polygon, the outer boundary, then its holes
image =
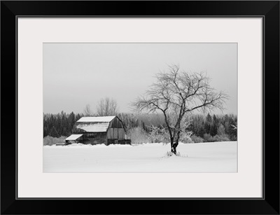
POLYGON ((43 172, 238 172, 237 43, 43 43, 43 172))

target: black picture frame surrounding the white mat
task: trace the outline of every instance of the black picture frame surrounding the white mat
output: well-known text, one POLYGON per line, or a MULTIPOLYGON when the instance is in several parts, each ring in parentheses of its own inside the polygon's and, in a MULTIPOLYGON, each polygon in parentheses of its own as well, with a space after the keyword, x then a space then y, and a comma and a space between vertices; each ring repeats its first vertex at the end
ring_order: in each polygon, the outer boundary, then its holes
POLYGON ((279 1, 1 1, 1 214, 279 214, 279 1), (18 199, 19 16, 263 18, 263 198, 18 199))

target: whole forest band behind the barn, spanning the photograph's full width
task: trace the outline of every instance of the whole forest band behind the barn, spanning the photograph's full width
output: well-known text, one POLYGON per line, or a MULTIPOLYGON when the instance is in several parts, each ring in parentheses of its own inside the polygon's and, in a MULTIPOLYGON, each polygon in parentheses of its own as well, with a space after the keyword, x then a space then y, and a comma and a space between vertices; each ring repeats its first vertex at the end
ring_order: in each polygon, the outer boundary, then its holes
MULTIPOLYGON (((43 144, 62 143, 72 134, 73 125, 85 116, 84 113, 44 113, 43 114, 43 144)), ((94 114, 92 114, 94 116, 94 114)), ((164 127, 165 119, 161 114, 117 113, 123 121, 127 136, 132 144, 159 142, 153 135, 151 127, 164 127)), ((192 132, 190 139, 181 139, 184 143, 200 143, 214 141, 237 140, 237 116, 233 114, 207 115, 193 114, 189 117, 190 126, 186 129, 192 132)), ((166 140, 168 142, 168 139, 166 140)))

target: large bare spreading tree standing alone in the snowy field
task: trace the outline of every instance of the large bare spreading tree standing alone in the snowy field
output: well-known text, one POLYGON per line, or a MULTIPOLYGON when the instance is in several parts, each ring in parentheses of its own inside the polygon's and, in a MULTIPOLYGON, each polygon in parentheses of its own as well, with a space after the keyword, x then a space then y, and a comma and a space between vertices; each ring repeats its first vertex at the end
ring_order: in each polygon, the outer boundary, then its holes
POLYGON ((176 155, 180 134, 188 123, 188 113, 223 110, 228 95, 211 88, 210 78, 204 72, 188 74, 180 71, 178 65, 169 66, 167 72, 155 77, 157 82, 150 86, 144 96, 138 97, 133 106, 137 111, 161 111, 164 114, 171 151, 176 155))

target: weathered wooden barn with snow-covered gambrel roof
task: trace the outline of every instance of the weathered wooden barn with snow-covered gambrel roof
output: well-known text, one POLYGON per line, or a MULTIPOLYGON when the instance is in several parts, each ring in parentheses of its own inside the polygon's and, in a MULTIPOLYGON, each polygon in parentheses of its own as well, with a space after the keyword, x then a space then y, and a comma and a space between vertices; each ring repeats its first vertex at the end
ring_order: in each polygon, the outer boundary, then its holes
POLYGON ((72 133, 65 144, 131 144, 117 116, 82 117, 75 123, 72 133))

